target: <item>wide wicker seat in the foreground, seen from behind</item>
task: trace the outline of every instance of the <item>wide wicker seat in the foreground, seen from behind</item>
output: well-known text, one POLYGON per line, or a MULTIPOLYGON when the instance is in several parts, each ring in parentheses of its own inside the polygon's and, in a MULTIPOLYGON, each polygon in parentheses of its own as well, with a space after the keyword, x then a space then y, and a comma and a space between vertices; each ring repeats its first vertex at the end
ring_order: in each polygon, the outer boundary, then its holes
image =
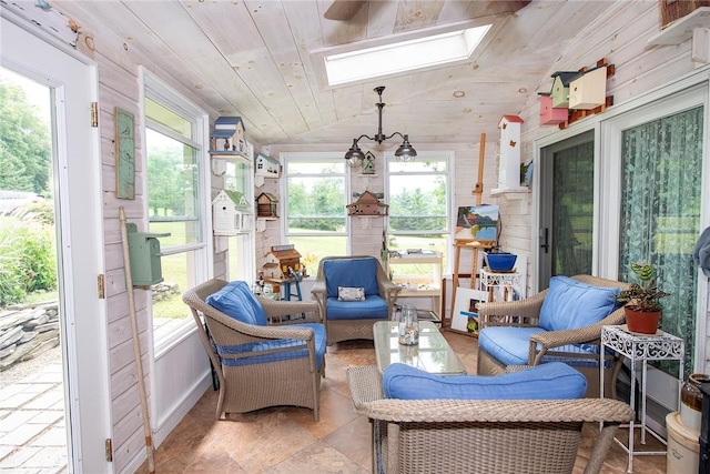
MULTIPOLYGON (((604 422, 585 473, 598 473, 633 410, 617 400, 393 400, 375 366, 347 369, 373 423, 374 473, 571 473, 585 422, 604 422)), ((596 427, 596 426, 595 426, 596 427)))

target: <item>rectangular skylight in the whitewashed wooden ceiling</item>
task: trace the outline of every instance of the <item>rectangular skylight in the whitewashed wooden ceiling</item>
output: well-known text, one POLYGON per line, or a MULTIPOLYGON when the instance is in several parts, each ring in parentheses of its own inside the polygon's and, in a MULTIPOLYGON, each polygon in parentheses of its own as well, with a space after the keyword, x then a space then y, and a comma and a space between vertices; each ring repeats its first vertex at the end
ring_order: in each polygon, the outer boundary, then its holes
POLYGON ((326 56, 328 84, 396 74, 468 60, 490 24, 326 56))

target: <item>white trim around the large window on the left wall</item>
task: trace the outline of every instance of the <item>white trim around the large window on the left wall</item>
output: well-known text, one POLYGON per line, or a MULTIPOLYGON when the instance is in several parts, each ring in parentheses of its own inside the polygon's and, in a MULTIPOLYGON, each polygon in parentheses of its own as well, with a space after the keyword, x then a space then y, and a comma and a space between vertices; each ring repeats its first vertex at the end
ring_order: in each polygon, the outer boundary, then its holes
MULTIPOLYGON (((180 135, 179 140, 182 142, 186 142, 187 144, 196 148, 199 150, 197 155, 197 165, 200 168, 200 193, 202 194, 200 213, 201 213, 201 234, 202 234, 202 243, 183 245, 180 248, 170 249, 165 252, 161 252, 162 255, 174 254, 178 250, 193 250, 196 252, 196 259, 201 260, 195 266, 197 268, 197 272, 195 273, 195 280, 197 282, 203 282, 212 278, 213 275, 213 241, 212 241, 212 209, 211 209, 211 173, 210 173, 210 155, 207 153, 209 149, 209 137, 210 137, 210 117, 209 114, 192 103, 190 100, 182 97, 175 90, 173 90, 170 85, 159 79, 155 74, 150 72, 144 67, 139 68, 139 79, 142 84, 141 88, 141 98, 140 98, 140 109, 141 117, 145 117, 145 98, 150 97, 152 100, 156 102, 168 105, 172 110, 180 111, 184 113, 186 117, 194 119, 195 123, 195 135, 193 140, 185 140, 185 137, 180 135)), ((142 137, 145 137, 146 130, 146 120, 141 120, 141 133, 142 137)), ((160 129, 161 133, 165 133, 170 137, 176 137, 175 132, 172 130, 168 130, 165 127, 160 124, 151 123, 151 128, 160 129), (154 127, 156 125, 156 127, 154 127)), ((142 143, 142 154, 143 154, 143 169, 148 170, 146 161, 148 161, 148 152, 146 152, 146 143, 143 140, 142 143)), ((143 195, 148 196, 148 179, 143 180, 143 195)), ((143 202, 143 215, 144 225, 148 228, 149 225, 149 209, 148 209, 148 199, 144 199, 143 202)), ((172 347, 180 344, 185 337, 196 331, 194 322, 191 317, 185 317, 184 324, 179 325, 173 331, 166 332, 165 334, 161 334, 159 339, 154 337, 153 333, 153 317, 152 317, 152 307, 149 300, 149 312, 151 317, 149 319, 149 327, 152 340, 153 347, 153 357, 160 359, 164 354, 169 353, 172 347)))

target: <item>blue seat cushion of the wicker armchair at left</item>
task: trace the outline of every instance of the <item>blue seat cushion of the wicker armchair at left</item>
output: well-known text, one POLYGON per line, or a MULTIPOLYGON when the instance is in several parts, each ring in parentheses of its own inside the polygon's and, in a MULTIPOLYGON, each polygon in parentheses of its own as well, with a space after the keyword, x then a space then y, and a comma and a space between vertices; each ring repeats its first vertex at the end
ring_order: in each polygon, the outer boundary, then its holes
MULTIPOLYGON (((297 327, 311 327, 313 329, 315 354, 316 354, 316 369, 321 371, 323 366, 323 357, 325 356, 325 349, 327 345, 327 337, 325 335, 325 326, 320 323, 302 323, 288 325, 290 329, 297 327)), ((239 345, 217 345, 217 354, 222 361, 222 365, 234 367, 252 364, 266 364, 270 362, 286 361, 291 359, 301 359, 308 356, 307 347, 295 347, 303 344, 303 341, 296 339, 280 339, 272 341, 251 342, 247 344, 239 345), (293 351, 284 351, 272 353, 270 351, 284 347, 294 347, 293 351), (229 359, 229 355, 242 354, 245 352, 265 352, 264 354, 254 354, 243 359, 229 359)))

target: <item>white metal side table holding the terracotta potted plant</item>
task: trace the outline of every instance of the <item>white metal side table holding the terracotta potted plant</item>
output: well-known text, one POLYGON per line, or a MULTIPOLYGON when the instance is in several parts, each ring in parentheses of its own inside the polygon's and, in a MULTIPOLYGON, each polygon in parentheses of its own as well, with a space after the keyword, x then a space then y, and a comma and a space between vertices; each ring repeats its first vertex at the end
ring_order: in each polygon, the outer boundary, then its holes
MULTIPOLYGON (((641 413, 640 413, 640 436, 641 444, 646 444, 646 433, 650 433, 663 444, 666 441, 646 425, 646 375, 648 369, 648 361, 679 361, 678 379, 683 379, 683 357, 686 349, 683 340, 668 334, 663 331, 658 331, 656 334, 638 334, 631 333, 627 330, 626 324, 619 326, 604 326, 601 329, 601 351, 599 353, 599 393, 604 397, 604 354, 606 349, 610 349, 620 355, 629 359, 631 363, 631 394, 630 405, 636 406, 636 371, 637 363, 641 362, 641 413)), ((680 384, 678 386, 680 402, 680 384)), ((633 472, 633 456, 635 455, 666 455, 666 451, 633 451, 633 426, 635 423, 629 423, 629 445, 623 445, 619 440, 615 440, 629 455, 628 472, 633 472)))

